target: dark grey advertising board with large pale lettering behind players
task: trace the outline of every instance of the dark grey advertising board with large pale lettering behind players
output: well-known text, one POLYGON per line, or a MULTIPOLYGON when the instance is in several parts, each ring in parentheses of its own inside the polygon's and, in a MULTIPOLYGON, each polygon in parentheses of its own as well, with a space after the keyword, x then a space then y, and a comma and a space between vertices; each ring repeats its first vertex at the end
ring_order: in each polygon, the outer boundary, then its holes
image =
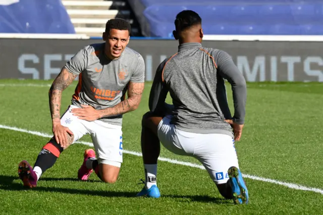
MULTIPOLYGON (((0 38, 0 78, 53 79, 80 48, 96 39, 0 38)), ((158 64, 177 52, 174 40, 131 40, 143 56, 146 80, 158 64)), ((323 82, 323 43, 288 41, 204 41, 203 46, 227 51, 246 81, 323 82)))

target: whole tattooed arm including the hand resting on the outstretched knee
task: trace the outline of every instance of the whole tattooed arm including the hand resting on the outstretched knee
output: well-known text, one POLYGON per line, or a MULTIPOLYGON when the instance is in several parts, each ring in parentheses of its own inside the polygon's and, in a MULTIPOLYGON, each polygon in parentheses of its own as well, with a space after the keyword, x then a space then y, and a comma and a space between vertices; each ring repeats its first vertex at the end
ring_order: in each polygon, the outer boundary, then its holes
POLYGON ((76 78, 77 75, 70 73, 63 67, 61 73, 53 81, 49 90, 49 109, 52 120, 52 132, 55 136, 56 142, 62 147, 67 147, 71 143, 71 136, 66 135, 66 132, 73 135, 67 127, 61 125, 61 99, 62 92, 65 90, 76 78))

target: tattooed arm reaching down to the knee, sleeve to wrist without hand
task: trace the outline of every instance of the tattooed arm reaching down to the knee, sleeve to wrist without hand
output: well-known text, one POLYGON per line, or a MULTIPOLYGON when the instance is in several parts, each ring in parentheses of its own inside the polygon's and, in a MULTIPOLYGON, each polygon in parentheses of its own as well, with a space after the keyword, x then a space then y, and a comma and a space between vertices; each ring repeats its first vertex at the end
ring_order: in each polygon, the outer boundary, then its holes
POLYGON ((61 119, 61 98, 62 92, 65 90, 76 78, 76 75, 70 73, 65 68, 57 76, 49 89, 49 109, 52 123, 60 123, 61 119))

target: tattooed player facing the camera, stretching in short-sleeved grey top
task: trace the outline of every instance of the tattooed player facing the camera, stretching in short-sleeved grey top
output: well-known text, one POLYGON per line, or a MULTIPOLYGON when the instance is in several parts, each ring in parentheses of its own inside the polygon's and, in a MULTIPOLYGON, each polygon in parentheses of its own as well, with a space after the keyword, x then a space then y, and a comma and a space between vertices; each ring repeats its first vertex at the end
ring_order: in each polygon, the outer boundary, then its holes
POLYGON ((145 65, 142 56, 127 47, 127 21, 109 20, 102 37, 105 42, 80 49, 53 81, 49 90, 53 137, 41 149, 33 169, 26 160, 19 164, 24 186, 36 187, 63 150, 85 134, 90 134, 95 151, 85 150, 78 178, 87 180, 94 170, 103 182, 116 182, 123 161, 122 116, 138 108, 145 65), (62 92, 77 76, 71 105, 61 117, 62 92))

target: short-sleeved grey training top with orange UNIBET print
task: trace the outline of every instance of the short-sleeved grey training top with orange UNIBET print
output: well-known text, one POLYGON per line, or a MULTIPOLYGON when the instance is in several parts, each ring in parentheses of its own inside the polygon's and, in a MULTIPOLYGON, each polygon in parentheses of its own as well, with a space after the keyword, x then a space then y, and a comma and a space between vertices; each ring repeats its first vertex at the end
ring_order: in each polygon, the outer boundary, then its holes
MULTIPOLYGON (((106 58, 105 43, 83 47, 65 65, 79 75, 79 83, 72 104, 93 106, 96 110, 110 108, 125 99, 129 81, 144 82, 145 65, 141 55, 126 47, 116 60, 106 58)), ((122 115, 99 119, 114 125, 122 125, 122 115)))

